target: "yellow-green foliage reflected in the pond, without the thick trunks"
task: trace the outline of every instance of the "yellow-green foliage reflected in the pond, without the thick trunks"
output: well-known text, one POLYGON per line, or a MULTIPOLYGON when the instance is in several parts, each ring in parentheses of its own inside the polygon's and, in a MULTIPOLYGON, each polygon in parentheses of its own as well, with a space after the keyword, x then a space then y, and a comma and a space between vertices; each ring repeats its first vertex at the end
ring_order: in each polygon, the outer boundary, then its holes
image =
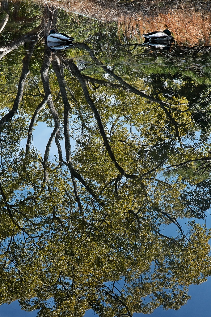
MULTIPOLYGON (((160 305, 178 309, 189 299, 188 286, 211 274, 210 231, 191 222, 183 232, 177 222, 203 218, 211 203, 209 129, 199 136, 192 115, 197 107, 210 113, 209 70, 198 71, 208 60, 199 58, 195 66, 191 59, 181 65, 176 57, 143 56, 143 47, 130 51, 116 45, 120 40, 114 23, 88 24, 84 17, 73 22, 73 16, 61 11, 59 31, 92 42, 95 56, 109 69, 172 105, 164 103, 164 111, 156 100, 136 95, 105 75, 84 49, 70 49, 65 58, 72 57, 83 76, 101 80, 87 80, 90 98, 118 164, 134 177, 119 175, 82 88, 68 69, 64 85, 71 106, 71 163, 65 162, 64 149, 60 161, 55 153, 44 162, 33 144, 26 154, 20 144, 26 144, 29 122, 44 94, 44 45, 38 43, 19 111, 1 129, 1 303, 18 299, 25 310, 40 309, 40 317, 82 317, 90 308, 102 317, 128 310, 149 314, 160 305), (188 103, 194 107, 189 109, 188 103), (84 183, 71 174, 70 165, 84 183), (170 223, 174 233, 164 236, 161 228, 170 223)), ((20 47, 2 60, 4 113, 13 106, 25 51, 20 47)), ((66 137, 64 104, 53 67, 48 77, 60 141, 66 137)), ((53 131, 47 105, 35 126, 40 121, 53 131)))

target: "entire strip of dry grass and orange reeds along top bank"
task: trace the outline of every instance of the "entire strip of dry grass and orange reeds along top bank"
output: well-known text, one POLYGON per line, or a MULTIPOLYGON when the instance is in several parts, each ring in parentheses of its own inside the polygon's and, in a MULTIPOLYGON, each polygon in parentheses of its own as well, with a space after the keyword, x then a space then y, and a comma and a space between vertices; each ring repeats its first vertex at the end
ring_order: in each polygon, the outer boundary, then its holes
POLYGON ((36 0, 67 12, 100 21, 118 21, 130 38, 154 30, 169 29, 179 44, 210 45, 211 5, 207 0, 36 0))

